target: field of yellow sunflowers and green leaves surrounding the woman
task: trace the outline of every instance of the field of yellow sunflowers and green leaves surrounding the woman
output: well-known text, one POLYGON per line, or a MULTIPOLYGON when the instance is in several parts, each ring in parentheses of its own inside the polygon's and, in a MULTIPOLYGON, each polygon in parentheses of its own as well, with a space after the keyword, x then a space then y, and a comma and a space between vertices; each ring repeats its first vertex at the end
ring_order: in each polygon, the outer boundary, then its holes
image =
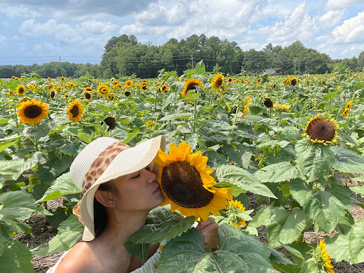
POLYGON ((0 272, 41 272, 34 257, 80 240, 72 211, 82 196, 68 171, 86 144, 160 134, 166 202, 125 244, 145 261, 143 246, 166 240, 158 272, 335 272, 364 262, 361 74, 223 75, 201 60, 180 77, 32 73, 0 80, 0 90, 0 272), (31 248, 18 237, 32 236, 34 215, 58 232, 31 248), (209 216, 220 245, 205 251, 192 226, 209 216))

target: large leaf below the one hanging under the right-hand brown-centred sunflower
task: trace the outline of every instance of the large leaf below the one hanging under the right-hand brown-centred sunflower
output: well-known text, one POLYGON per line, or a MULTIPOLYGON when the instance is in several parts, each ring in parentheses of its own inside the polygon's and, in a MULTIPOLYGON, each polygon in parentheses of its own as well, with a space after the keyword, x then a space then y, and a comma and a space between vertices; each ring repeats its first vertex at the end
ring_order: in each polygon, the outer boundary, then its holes
POLYGON ((328 233, 333 231, 347 212, 343 203, 330 192, 313 191, 301 179, 293 179, 289 188, 306 215, 328 233))

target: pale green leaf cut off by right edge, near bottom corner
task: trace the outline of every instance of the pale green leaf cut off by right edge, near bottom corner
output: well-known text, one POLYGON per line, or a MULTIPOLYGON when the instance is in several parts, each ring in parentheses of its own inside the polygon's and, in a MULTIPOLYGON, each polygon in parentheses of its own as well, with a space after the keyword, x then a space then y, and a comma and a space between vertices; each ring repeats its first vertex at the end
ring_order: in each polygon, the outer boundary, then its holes
POLYGON ((326 250, 336 262, 346 260, 350 264, 364 262, 364 218, 360 218, 347 235, 326 237, 326 250))

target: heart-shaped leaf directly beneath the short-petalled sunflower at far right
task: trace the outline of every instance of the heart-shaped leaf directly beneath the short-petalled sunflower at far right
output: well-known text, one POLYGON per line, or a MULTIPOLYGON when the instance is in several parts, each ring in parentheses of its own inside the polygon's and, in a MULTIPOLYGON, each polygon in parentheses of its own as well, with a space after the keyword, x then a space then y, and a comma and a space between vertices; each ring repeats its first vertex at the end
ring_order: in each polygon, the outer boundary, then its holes
POLYGON ((309 176, 309 182, 322 177, 335 161, 335 154, 330 147, 311 144, 306 139, 297 141, 294 149, 299 171, 302 176, 309 176))

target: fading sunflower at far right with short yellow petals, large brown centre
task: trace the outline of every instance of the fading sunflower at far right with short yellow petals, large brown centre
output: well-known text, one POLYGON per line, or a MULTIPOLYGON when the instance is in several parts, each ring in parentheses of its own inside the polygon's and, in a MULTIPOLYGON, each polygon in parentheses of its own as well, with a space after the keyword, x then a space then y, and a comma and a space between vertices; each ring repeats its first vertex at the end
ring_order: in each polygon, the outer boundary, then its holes
POLYGON ((337 142, 336 129, 338 129, 338 124, 335 119, 323 119, 319 113, 307 123, 304 137, 313 143, 332 144, 337 142))

